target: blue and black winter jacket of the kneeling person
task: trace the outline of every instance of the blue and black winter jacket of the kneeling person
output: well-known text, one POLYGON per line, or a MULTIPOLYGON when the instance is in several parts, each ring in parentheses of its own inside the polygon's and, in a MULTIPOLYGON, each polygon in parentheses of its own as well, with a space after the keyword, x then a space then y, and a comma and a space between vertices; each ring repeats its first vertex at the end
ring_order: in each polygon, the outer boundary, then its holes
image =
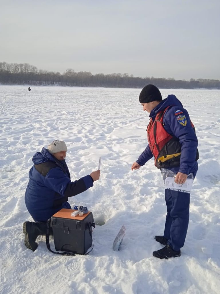
POLYGON ((58 161, 45 148, 35 153, 32 161, 25 204, 35 221, 46 221, 61 208, 71 208, 68 197, 93 186, 89 175, 71 182, 65 160, 58 161))

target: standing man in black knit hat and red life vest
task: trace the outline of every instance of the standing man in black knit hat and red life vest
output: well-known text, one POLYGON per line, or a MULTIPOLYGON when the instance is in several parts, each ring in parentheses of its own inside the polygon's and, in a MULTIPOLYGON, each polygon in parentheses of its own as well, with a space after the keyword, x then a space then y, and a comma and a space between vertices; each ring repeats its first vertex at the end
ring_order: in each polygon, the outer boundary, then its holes
MULTIPOLYGON (((132 171, 154 157, 157 168, 166 168, 176 174, 177 184, 185 183, 189 173, 195 177, 198 170, 198 141, 182 103, 175 95, 168 95, 162 100, 159 89, 154 85, 142 89, 139 102, 143 111, 150 113, 148 146, 133 163, 132 171)), ((155 240, 165 247, 154 251, 153 256, 161 259, 180 256, 189 223, 189 198, 189 193, 165 189, 167 216, 164 234, 155 236, 155 240)))

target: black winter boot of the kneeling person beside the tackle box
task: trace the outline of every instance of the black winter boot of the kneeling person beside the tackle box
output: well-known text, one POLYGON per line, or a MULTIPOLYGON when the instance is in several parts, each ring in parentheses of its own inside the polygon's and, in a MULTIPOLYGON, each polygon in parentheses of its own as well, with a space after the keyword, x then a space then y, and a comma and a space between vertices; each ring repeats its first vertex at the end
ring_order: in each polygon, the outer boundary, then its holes
POLYGON ((27 248, 35 251, 38 244, 35 242, 39 235, 46 235, 47 225, 45 222, 34 223, 25 221, 23 223, 23 233, 25 235, 24 244, 27 248))

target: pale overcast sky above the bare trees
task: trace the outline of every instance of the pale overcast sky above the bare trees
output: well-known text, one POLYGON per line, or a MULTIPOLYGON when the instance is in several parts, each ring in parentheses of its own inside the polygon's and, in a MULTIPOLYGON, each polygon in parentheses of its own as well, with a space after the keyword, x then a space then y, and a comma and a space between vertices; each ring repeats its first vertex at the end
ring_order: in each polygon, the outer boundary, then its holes
POLYGON ((220 79, 220 0, 0 0, 0 61, 220 79))

